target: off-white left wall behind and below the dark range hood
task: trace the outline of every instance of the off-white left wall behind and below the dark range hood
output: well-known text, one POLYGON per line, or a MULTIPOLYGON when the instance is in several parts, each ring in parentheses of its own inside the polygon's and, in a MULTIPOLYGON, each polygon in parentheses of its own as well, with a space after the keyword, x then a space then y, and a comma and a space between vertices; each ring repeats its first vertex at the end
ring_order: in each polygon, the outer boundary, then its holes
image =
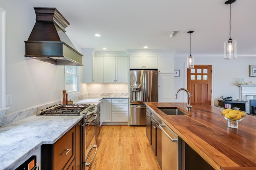
POLYGON ((24 57, 24 41, 36 22, 33 6, 26 0, 0 0, 0 8, 6 11, 6 95, 12 95, 6 113, 62 100, 64 66, 24 57))

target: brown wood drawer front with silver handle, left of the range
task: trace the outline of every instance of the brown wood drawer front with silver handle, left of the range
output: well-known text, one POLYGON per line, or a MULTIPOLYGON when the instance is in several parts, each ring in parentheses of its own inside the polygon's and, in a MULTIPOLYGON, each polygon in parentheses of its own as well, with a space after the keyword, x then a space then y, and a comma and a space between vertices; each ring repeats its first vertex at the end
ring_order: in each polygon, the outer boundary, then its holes
POLYGON ((62 170, 75 158, 75 129, 71 129, 54 145, 54 169, 62 170))

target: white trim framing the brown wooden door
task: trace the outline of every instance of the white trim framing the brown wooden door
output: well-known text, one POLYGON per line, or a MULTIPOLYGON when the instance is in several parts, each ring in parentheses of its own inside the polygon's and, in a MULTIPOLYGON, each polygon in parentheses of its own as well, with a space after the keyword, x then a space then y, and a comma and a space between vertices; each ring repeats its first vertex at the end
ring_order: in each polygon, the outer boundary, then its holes
MULTIPOLYGON (((211 95, 211 105, 214 106, 214 63, 195 63, 195 65, 211 65, 212 66, 212 95, 211 95)), ((187 63, 184 62, 184 87, 187 89, 187 63)), ((184 94, 184 99, 186 98, 186 94, 184 94)))

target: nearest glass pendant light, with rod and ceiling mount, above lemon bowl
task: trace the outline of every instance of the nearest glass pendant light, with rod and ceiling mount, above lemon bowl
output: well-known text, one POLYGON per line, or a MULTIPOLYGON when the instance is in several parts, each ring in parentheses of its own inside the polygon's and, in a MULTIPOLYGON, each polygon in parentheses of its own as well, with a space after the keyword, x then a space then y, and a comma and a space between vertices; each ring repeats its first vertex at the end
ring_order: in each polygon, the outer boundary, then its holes
POLYGON ((236 58, 236 41, 231 39, 231 4, 236 0, 228 0, 225 4, 230 5, 230 18, 229 18, 229 40, 224 42, 224 59, 235 59, 236 58))

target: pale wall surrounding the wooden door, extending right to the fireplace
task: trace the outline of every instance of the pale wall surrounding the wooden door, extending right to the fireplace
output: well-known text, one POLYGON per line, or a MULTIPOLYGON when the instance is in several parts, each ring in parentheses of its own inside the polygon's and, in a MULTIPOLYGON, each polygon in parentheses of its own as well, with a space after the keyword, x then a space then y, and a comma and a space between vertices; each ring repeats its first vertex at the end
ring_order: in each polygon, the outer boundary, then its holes
MULTIPOLYGON (((179 87, 186 88, 186 69, 184 69, 184 63, 188 55, 175 55, 175 70, 180 70, 180 77, 175 77, 174 91, 176 92, 179 87), (180 85, 183 82, 183 85, 180 85)), ((218 105, 218 100, 221 100, 220 96, 229 97, 233 100, 239 99, 239 78, 244 78, 245 82, 252 81, 256 84, 256 77, 249 77, 249 65, 255 65, 255 57, 238 56, 237 59, 224 60, 223 55, 193 55, 195 57, 195 64, 209 64, 213 63, 214 67, 214 104, 218 105)), ((180 92, 179 92, 180 93, 180 92)), ((186 102, 186 98, 182 98, 178 95, 178 99, 175 102, 186 102)))

